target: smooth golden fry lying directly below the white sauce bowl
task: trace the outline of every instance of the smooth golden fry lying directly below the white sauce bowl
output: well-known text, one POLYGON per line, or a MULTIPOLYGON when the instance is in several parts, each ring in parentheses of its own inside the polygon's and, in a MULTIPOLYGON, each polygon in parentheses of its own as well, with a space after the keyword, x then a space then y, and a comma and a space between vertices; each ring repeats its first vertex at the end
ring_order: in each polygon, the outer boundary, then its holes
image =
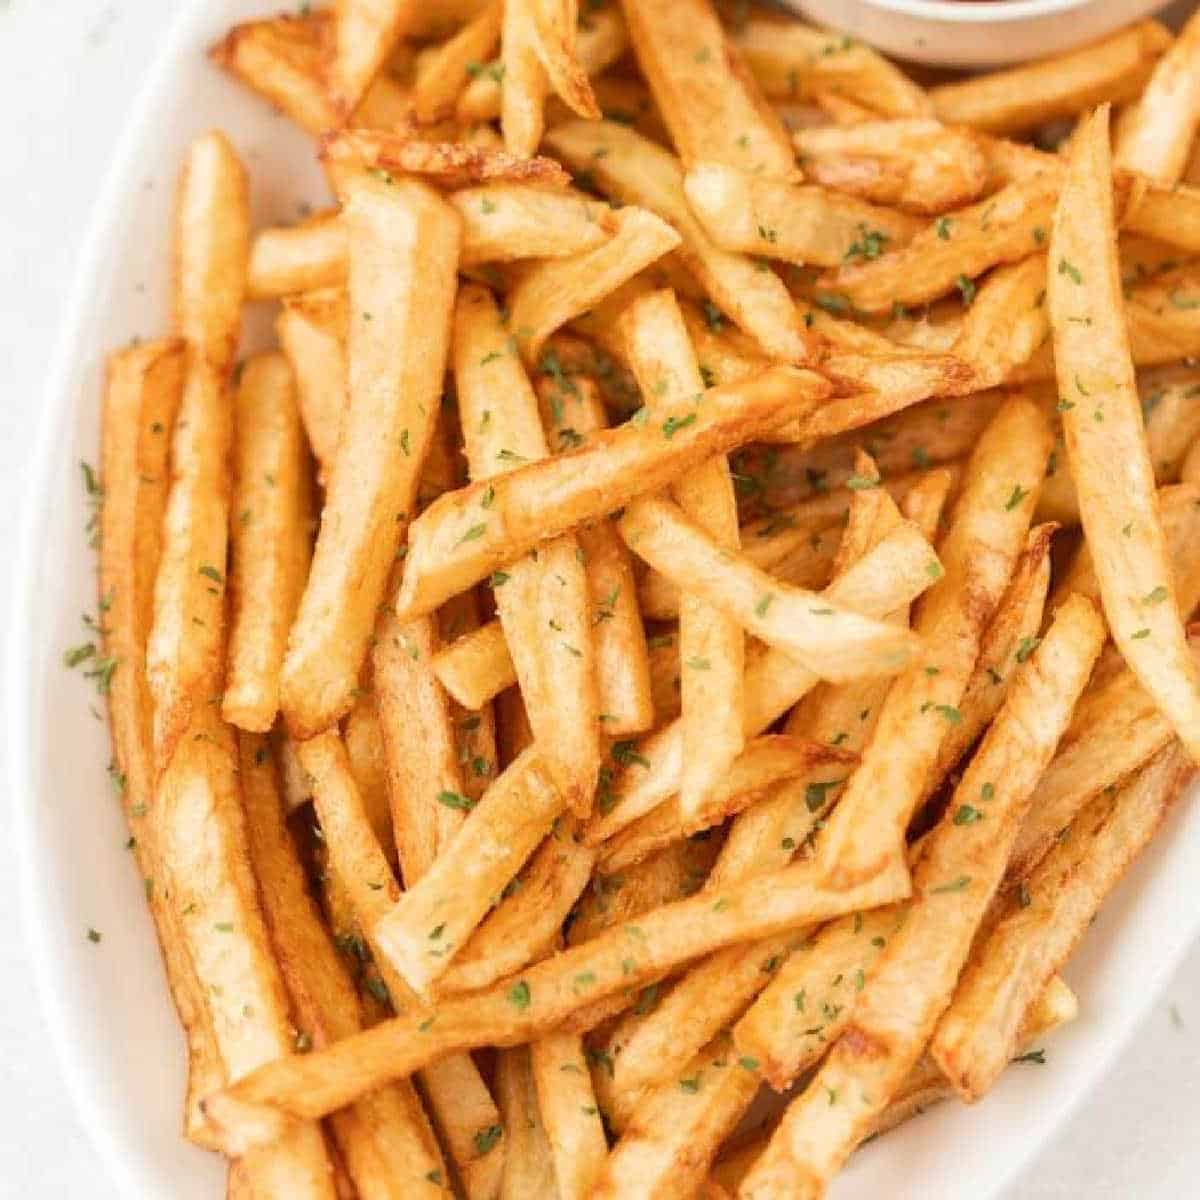
POLYGON ((1132 100, 1170 43, 1171 35, 1147 20, 1082 49, 941 84, 929 95, 947 124, 1019 133, 1103 101, 1132 100))

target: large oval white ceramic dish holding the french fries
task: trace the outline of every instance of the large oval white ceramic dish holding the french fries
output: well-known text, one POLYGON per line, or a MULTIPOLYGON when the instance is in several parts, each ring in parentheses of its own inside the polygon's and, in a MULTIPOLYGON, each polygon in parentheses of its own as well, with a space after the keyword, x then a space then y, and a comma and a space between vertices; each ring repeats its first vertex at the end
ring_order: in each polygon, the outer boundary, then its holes
MULTIPOLYGON (((80 458, 94 460, 103 356, 167 326, 170 198, 180 154, 220 125, 253 178, 258 221, 320 202, 311 146, 211 68, 204 47, 277 0, 196 0, 172 32, 98 200, 46 397, 10 644, 10 792, 37 986, 84 1123, 131 1200, 212 1200, 223 1169, 179 1135, 184 1045, 143 884, 104 768, 98 703, 62 666, 95 610, 80 458), (88 926, 103 934, 86 938, 88 926)), ((1200 810, 1183 804, 1072 962, 1082 1015, 1045 1067, 1019 1067, 982 1105, 942 1105, 857 1156, 836 1200, 998 1195, 1097 1086, 1200 925, 1200 810)), ((1111 1103, 1120 1104, 1120 1097, 1111 1103)), ((1130 1114, 1130 1116, 1133 1116, 1130 1114)), ((1064 1194, 1075 1181, 1063 1181, 1064 1194)))

